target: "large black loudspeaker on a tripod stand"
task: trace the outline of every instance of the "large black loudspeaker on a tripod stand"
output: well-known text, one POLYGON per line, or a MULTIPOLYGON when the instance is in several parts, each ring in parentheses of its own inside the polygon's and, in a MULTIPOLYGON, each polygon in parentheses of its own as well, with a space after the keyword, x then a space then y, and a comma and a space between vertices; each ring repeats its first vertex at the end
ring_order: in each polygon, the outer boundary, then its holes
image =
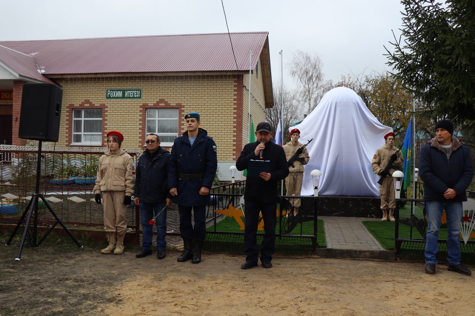
POLYGON ((50 83, 25 83, 18 137, 57 142, 63 90, 50 83))

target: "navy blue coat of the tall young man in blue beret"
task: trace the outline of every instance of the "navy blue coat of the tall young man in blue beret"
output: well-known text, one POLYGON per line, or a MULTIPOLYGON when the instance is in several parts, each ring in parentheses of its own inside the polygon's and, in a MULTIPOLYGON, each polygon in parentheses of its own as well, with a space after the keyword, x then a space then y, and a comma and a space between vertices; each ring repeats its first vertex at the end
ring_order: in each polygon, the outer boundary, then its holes
POLYGON ((188 131, 175 138, 171 148, 170 167, 168 171, 168 189, 177 188, 178 195, 173 197, 173 202, 182 206, 209 205, 210 196, 199 195, 201 187, 211 189, 213 185, 218 158, 216 143, 208 132, 199 128, 193 146, 188 139, 188 131), (179 173, 200 174, 200 179, 185 179, 179 173))

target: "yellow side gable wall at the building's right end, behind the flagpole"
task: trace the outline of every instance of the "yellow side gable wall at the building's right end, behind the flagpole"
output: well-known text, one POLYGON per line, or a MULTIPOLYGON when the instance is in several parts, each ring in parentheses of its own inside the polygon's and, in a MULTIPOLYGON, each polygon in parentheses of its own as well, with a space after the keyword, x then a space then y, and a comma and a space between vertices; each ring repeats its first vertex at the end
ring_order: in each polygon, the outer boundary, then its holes
MULTIPOLYGON (((248 88, 249 86, 249 74, 243 76, 243 83, 248 88)), ((248 100, 249 100, 249 90, 243 89, 243 107, 244 107, 244 115, 243 115, 243 141, 244 144, 248 143, 247 138, 247 111, 248 111, 248 100)), ((254 121, 254 133, 256 130, 257 124, 260 122, 264 122, 266 120, 266 101, 264 99, 264 82, 262 80, 262 68, 261 68, 261 60, 259 57, 258 61, 258 70, 256 76, 256 69, 254 69, 254 73, 251 74, 251 119, 254 121)))

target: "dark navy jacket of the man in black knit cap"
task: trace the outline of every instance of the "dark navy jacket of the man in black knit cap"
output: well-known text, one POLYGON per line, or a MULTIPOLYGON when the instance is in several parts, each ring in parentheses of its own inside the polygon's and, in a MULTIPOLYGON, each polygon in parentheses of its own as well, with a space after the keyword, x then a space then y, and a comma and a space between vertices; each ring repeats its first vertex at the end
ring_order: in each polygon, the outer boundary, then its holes
POLYGON ((447 201, 444 192, 454 189, 457 195, 450 200, 466 201, 466 190, 474 176, 468 148, 452 137, 452 148, 447 158, 437 137, 434 137, 420 150, 419 176, 424 181, 425 200, 447 201))

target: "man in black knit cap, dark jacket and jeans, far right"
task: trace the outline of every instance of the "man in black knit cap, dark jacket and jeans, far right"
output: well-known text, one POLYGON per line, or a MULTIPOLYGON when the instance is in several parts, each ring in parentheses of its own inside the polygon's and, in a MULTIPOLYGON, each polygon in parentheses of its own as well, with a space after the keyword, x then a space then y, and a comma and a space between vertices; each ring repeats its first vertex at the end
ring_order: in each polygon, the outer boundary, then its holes
POLYGON ((419 155, 419 176, 424 181, 428 217, 425 272, 436 272, 438 235, 442 213, 447 217, 448 270, 465 275, 472 271, 460 264, 460 222, 462 202, 472 182, 474 169, 468 148, 452 137, 454 126, 447 120, 436 125, 436 137, 425 144, 419 155))

